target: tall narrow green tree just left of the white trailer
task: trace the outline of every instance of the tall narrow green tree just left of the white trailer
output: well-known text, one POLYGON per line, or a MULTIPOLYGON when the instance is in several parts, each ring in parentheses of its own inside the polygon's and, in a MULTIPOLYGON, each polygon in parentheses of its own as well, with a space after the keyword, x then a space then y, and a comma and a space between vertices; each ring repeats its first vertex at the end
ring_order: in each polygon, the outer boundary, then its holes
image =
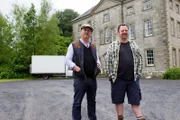
POLYGON ((18 73, 29 73, 29 65, 31 56, 35 54, 35 33, 37 32, 36 10, 34 5, 23 14, 23 25, 20 27, 18 36, 19 40, 16 42, 18 57, 15 58, 14 71, 18 73))

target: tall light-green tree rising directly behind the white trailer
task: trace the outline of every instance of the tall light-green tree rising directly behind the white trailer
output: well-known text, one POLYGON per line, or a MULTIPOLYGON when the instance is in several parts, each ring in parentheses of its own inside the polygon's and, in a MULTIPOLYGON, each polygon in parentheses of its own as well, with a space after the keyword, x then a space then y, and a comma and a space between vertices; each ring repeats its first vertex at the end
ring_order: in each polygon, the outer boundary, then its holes
POLYGON ((41 12, 38 16, 37 53, 39 55, 57 55, 56 43, 58 40, 58 19, 50 16, 51 3, 43 0, 41 12))

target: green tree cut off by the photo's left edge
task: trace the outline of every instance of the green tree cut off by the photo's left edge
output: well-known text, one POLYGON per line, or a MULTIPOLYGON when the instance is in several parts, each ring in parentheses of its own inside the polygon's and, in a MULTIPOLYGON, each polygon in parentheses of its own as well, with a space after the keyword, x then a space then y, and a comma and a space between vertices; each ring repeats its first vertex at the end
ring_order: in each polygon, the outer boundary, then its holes
POLYGON ((12 25, 0 13, 0 78, 7 78, 13 65, 13 34, 12 25))

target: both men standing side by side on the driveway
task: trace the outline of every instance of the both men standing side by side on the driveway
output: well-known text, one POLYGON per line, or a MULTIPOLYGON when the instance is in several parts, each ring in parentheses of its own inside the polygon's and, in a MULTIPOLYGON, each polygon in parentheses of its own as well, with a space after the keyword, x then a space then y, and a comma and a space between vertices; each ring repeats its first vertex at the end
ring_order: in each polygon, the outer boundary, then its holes
MULTIPOLYGON (((87 95, 89 120, 96 120, 96 76, 100 72, 100 61, 96 47, 90 42, 93 28, 89 24, 81 27, 81 38, 71 43, 66 55, 66 65, 73 70, 74 101, 73 120, 81 120, 81 103, 87 95)), ((128 41, 128 26, 118 26, 120 40, 110 44, 105 58, 105 71, 111 81, 112 103, 115 104, 118 120, 123 120, 123 103, 127 93, 128 102, 138 120, 142 115, 139 78, 142 71, 142 56, 137 45, 128 41)))

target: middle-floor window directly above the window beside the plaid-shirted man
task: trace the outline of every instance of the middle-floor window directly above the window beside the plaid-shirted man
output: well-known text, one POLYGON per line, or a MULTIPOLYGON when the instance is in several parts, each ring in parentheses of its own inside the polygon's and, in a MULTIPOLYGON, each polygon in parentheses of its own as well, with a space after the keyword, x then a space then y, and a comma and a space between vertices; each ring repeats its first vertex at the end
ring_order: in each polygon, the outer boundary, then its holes
POLYGON ((152 20, 145 20, 144 21, 144 32, 145 36, 152 36, 153 35, 153 30, 152 30, 152 20))

